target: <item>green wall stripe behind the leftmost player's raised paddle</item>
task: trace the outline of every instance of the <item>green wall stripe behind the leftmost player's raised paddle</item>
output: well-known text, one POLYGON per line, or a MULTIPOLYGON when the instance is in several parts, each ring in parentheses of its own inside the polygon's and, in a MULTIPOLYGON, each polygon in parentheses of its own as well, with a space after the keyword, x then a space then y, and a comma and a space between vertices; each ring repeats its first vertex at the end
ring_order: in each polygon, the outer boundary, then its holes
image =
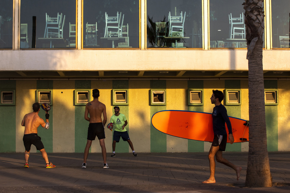
MULTIPOLYGON (((36 81, 36 89, 53 89, 53 81, 52 80, 37 80, 36 81)), ((53 101, 53 99, 52 99, 52 101, 53 101)), ((51 152, 53 152, 53 116, 52 116, 53 104, 51 105, 51 109, 49 111, 49 114, 50 114, 50 116, 49 116, 49 129, 44 129, 41 126, 39 126, 37 129, 37 132, 38 132, 38 135, 41 137, 41 141, 44 145, 45 151, 48 153, 51 153, 51 152)), ((45 120, 45 111, 40 109, 38 115, 43 120, 45 120)))

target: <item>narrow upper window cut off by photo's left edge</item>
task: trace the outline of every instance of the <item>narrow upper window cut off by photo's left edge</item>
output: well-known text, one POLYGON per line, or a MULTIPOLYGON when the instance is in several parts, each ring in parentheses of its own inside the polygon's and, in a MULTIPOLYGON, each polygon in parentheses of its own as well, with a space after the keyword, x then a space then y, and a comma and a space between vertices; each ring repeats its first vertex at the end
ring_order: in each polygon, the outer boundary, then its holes
POLYGON ((13 0, 0 1, 0 49, 12 49, 13 0))

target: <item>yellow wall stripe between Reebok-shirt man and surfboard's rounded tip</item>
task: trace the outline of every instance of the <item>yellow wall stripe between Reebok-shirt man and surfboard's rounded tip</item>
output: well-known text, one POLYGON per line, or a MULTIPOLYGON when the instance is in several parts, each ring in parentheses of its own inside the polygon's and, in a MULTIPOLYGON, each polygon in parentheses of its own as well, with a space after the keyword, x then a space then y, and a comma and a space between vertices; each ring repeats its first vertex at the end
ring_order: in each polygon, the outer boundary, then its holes
POLYGON ((149 88, 150 80, 129 81, 129 136, 136 152, 150 152, 149 88))

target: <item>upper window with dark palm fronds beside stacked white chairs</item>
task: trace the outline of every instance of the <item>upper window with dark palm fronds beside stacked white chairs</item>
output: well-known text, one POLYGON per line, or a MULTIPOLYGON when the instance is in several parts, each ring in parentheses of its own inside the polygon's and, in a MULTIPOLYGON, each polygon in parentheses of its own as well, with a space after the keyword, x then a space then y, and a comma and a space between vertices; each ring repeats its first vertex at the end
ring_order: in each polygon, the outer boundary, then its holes
POLYGON ((202 1, 147 0, 147 47, 202 48, 202 1))

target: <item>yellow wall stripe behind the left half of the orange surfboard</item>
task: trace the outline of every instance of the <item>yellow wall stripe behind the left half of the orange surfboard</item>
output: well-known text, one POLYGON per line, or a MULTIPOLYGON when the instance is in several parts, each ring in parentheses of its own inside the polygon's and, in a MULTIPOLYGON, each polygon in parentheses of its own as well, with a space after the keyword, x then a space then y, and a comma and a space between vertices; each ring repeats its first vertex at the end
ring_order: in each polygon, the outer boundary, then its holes
MULTIPOLYGON (((187 80, 166 81, 166 109, 187 111, 187 80)), ((188 139, 182 139, 171 135, 167 137, 167 152, 187 152, 188 139)))

